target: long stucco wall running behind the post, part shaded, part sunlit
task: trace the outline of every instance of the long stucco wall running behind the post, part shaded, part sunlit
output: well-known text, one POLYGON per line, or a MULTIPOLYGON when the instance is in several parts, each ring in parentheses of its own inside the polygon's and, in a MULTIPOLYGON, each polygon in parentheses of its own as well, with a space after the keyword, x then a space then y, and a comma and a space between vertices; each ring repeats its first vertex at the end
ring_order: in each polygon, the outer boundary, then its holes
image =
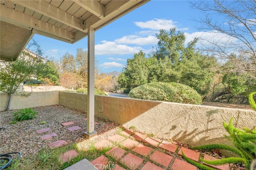
MULTIPOLYGON (((87 95, 59 92, 59 104, 86 111, 87 95)), ((95 115, 126 128, 192 146, 226 143, 222 122, 234 117, 238 128, 256 126, 256 112, 202 105, 95 96, 95 115)))

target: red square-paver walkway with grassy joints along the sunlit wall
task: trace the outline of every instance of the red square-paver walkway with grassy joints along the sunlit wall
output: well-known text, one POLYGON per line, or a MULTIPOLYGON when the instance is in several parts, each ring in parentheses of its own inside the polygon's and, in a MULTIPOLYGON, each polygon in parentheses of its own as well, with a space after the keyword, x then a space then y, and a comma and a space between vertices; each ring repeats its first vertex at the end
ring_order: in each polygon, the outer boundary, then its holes
MULTIPOLYGON (((91 163, 96 166, 102 163, 103 166, 111 160, 111 164, 115 164, 114 169, 118 170, 197 170, 196 166, 189 164, 182 158, 181 151, 196 162, 200 158, 200 152, 179 147, 176 144, 148 137, 144 134, 134 134, 130 130, 124 130, 119 134, 108 137, 108 139, 101 140, 95 146, 99 150, 106 146, 111 146, 111 149, 91 161, 91 163)), ((206 154, 201 156, 206 160, 216 159, 206 154)), ((229 170, 229 164, 211 167, 219 170, 229 170)), ((101 168, 98 167, 98 169, 101 168)))

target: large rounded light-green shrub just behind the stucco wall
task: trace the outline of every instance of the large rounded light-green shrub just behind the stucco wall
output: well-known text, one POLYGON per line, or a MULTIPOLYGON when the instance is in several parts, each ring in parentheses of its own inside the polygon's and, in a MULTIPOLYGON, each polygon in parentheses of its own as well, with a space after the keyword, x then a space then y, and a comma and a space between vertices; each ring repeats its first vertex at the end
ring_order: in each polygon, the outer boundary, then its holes
POLYGON ((132 89, 131 98, 169 101, 176 103, 202 104, 201 96, 187 85, 179 83, 148 83, 132 89))

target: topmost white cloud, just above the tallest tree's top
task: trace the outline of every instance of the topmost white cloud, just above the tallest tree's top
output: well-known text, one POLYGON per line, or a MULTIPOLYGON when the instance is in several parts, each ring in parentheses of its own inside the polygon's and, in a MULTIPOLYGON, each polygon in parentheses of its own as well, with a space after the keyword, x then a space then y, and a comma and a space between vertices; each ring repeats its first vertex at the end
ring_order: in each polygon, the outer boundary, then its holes
POLYGON ((170 28, 174 28, 174 27, 176 27, 176 30, 179 30, 179 31, 188 30, 188 28, 178 28, 177 26, 178 22, 174 22, 172 20, 157 19, 157 18, 146 21, 146 22, 135 22, 135 24, 140 28, 143 28, 143 29, 148 28, 151 30, 160 30, 160 29, 170 30, 170 28))

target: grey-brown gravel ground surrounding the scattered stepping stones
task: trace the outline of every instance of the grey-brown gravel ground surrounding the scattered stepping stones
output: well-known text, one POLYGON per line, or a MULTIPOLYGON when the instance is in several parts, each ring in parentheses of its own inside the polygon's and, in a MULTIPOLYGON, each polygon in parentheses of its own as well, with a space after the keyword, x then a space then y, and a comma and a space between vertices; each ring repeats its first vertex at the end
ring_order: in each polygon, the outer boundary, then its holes
MULTIPOLYGON (((37 111, 36 119, 27 121, 17 121, 16 124, 10 124, 13 120, 13 112, 3 111, 0 113, 0 153, 22 152, 22 157, 32 156, 39 152, 42 148, 48 147, 47 144, 57 140, 66 140, 68 143, 81 142, 84 140, 82 134, 86 132, 87 121, 83 118, 86 113, 79 112, 62 106, 45 106, 33 108, 37 111), (46 124, 41 125, 42 121, 46 124), (72 121, 74 125, 78 125, 82 129, 70 132, 63 127, 61 123, 72 121), (36 130, 50 128, 51 131, 37 134, 36 130), (40 136, 55 132, 58 136, 47 140, 41 140, 40 136)), ((118 125, 107 122, 102 119, 95 118, 99 124, 95 125, 98 136, 93 141, 97 142, 116 134, 118 125)))

